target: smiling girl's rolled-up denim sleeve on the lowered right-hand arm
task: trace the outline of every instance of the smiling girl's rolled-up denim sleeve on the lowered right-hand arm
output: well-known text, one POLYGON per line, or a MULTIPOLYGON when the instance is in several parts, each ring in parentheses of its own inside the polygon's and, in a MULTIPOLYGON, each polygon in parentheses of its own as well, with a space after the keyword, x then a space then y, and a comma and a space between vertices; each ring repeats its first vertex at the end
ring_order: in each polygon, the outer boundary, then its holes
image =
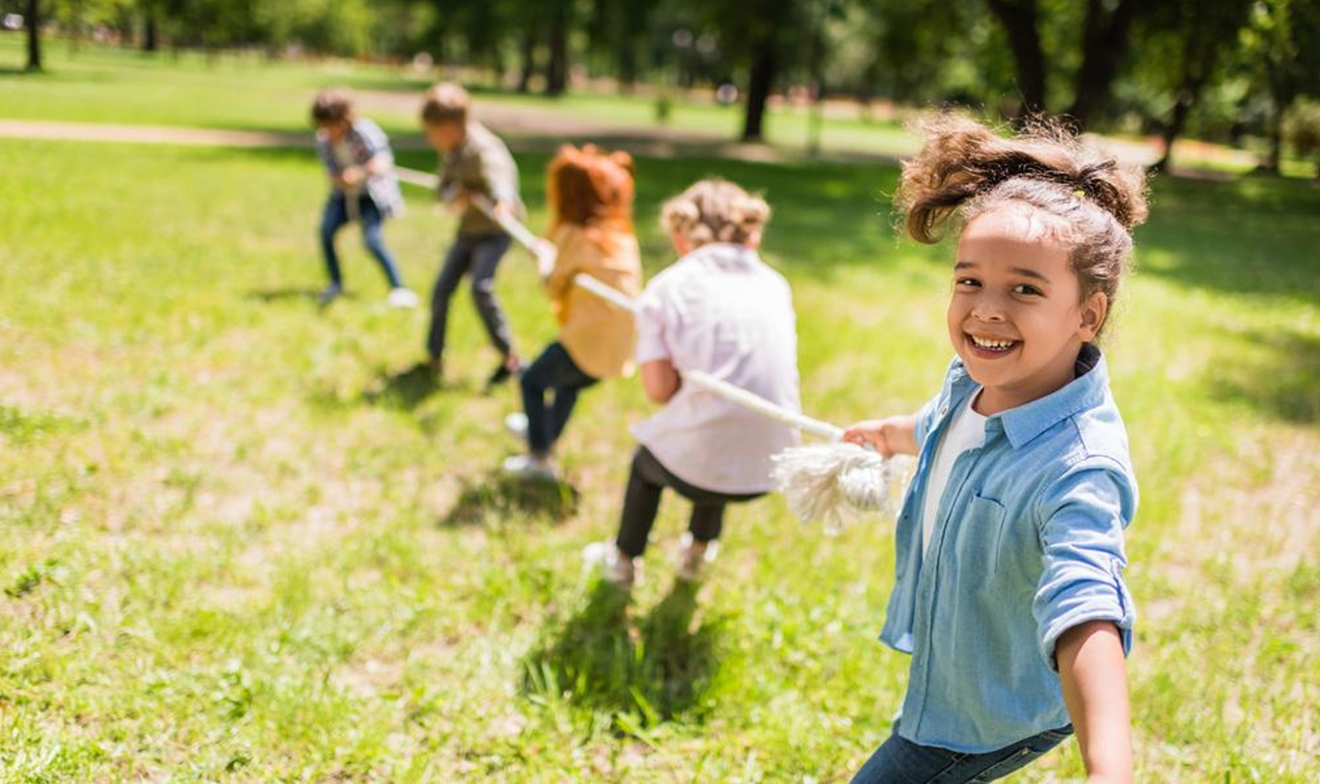
POLYGON ((1123 583, 1123 528, 1137 512, 1137 487, 1109 461, 1084 462, 1049 483, 1040 504, 1044 570, 1032 612, 1045 663, 1057 669, 1055 645, 1069 628, 1111 620, 1131 649, 1135 608, 1123 583))

